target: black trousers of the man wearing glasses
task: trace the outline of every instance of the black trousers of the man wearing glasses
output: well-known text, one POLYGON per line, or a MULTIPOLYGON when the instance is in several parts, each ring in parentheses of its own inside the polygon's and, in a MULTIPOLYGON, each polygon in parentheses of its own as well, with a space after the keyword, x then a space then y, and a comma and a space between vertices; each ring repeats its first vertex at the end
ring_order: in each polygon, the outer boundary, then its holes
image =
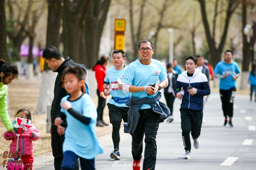
POLYGON ((155 170, 156 162, 156 134, 161 119, 152 109, 139 110, 140 118, 137 127, 132 133, 132 156, 139 161, 143 151, 143 137, 145 134, 145 152, 143 170, 155 170))

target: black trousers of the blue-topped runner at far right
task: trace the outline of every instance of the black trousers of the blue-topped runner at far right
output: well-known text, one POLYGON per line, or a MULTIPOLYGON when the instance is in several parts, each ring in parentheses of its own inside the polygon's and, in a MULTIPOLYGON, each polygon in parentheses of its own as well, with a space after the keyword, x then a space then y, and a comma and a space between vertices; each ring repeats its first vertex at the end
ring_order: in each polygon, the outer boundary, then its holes
POLYGON ((229 118, 233 117, 234 111, 234 99, 236 96, 236 88, 233 87, 229 90, 219 90, 220 100, 222 103, 223 115, 225 118, 229 116, 229 118))

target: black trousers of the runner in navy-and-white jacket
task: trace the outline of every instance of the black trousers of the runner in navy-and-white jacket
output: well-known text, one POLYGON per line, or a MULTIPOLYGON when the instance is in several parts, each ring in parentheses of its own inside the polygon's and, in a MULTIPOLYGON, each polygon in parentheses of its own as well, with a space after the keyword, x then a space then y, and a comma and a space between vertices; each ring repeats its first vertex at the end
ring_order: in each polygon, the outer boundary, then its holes
POLYGON ((202 110, 189 110, 180 108, 182 139, 185 151, 191 151, 190 132, 193 139, 197 139, 201 134, 202 110))

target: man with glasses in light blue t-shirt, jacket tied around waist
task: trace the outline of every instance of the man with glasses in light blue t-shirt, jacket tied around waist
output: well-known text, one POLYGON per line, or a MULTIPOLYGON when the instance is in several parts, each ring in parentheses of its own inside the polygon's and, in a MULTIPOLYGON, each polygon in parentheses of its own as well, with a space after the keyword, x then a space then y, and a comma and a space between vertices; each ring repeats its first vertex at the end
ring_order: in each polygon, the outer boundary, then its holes
POLYGON ((124 91, 132 93, 126 102, 129 110, 124 132, 132 135, 133 170, 140 170, 144 134, 143 170, 155 170, 157 130, 159 123, 170 115, 169 108, 158 101, 161 98, 158 91, 168 85, 168 79, 162 63, 152 59, 154 46, 151 41, 139 42, 138 54, 140 59, 129 64, 123 79, 124 91))

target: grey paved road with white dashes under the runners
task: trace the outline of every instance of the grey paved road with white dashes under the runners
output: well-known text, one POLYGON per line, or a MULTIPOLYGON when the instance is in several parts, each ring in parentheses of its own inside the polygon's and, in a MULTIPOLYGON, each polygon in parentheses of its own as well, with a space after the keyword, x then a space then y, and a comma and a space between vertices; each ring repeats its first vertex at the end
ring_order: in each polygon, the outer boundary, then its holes
MULTIPOLYGON (((205 104, 199 149, 191 150, 191 159, 183 160, 180 125, 180 101, 175 100, 173 123, 163 122, 157 134, 155 170, 255 170, 256 168, 256 103, 237 95, 233 124, 224 127, 219 93, 212 93, 205 104)), ((107 127, 106 127, 107 128, 107 127)), ((121 129, 121 160, 110 159, 111 135, 100 137, 104 153, 96 158, 97 170, 132 170, 131 137, 121 129)), ((35 170, 54 170, 52 156, 35 159, 35 170)))

